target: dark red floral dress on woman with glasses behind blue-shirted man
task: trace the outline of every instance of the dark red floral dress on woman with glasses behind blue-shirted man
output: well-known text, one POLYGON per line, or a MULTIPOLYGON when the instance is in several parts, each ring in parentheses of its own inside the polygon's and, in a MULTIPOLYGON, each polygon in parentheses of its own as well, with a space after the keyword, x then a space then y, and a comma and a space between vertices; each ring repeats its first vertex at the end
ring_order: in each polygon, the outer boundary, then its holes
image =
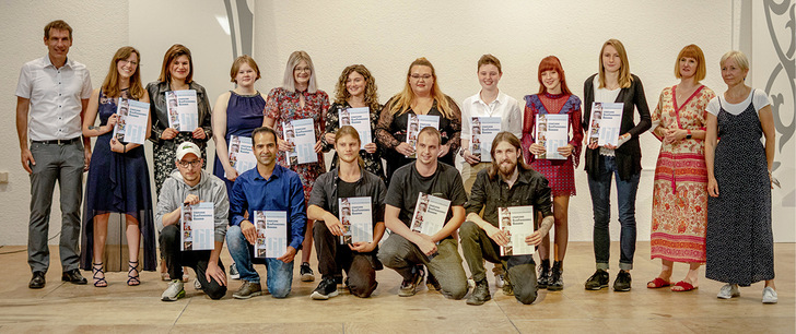
MULTIPOLYGON (((324 115, 329 109, 329 96, 326 92, 318 90, 315 93, 305 92, 288 92, 282 87, 277 87, 268 93, 266 98, 266 108, 264 114, 276 120, 273 130, 282 133, 282 122, 312 118, 315 124, 315 139, 320 140, 324 135, 324 115), (304 95, 304 108, 300 105, 300 97, 304 95)), ((284 167, 298 174, 304 184, 304 199, 309 203, 309 193, 313 191, 315 179, 326 171, 324 163, 324 154, 318 153, 318 162, 311 164, 291 165, 285 163, 284 154, 277 156, 278 163, 284 167)))

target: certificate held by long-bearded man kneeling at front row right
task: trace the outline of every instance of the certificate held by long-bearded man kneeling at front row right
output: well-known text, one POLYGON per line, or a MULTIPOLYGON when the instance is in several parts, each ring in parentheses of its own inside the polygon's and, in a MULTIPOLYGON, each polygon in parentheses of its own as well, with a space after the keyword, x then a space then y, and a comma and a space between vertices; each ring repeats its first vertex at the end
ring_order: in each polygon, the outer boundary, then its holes
POLYGON ((500 229, 508 235, 508 244, 501 247, 501 257, 529 255, 534 246, 525 243, 525 237, 534 234, 534 206, 497 208, 500 229))

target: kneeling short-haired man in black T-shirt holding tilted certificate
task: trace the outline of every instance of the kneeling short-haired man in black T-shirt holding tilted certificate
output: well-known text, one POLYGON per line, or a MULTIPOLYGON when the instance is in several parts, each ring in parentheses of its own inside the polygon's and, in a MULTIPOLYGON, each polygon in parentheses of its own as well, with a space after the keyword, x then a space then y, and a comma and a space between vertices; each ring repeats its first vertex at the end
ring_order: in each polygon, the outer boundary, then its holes
POLYGON ((445 297, 461 299, 467 295, 458 244, 450 236, 465 220, 467 195, 459 171, 436 160, 441 141, 436 129, 422 129, 418 134, 418 159, 398 168, 387 190, 384 220, 393 234, 382 244, 378 260, 403 277, 398 294, 401 297, 413 296, 423 279, 422 266, 417 264, 425 265, 436 277, 445 297), (450 201, 445 225, 433 236, 409 229, 421 192, 450 201))

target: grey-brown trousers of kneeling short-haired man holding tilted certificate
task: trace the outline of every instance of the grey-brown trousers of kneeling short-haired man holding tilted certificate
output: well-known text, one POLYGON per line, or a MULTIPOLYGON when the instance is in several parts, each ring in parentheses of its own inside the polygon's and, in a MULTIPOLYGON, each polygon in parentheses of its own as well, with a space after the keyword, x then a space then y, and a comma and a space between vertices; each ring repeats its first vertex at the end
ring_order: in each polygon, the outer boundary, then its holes
POLYGON ((378 250, 378 260, 385 266, 398 272, 403 279, 412 278, 414 265, 424 264, 440 282, 445 297, 464 298, 468 289, 467 275, 461 266, 458 242, 456 239, 447 238, 440 241, 436 248, 437 255, 429 260, 418 246, 398 234, 391 234, 378 250))

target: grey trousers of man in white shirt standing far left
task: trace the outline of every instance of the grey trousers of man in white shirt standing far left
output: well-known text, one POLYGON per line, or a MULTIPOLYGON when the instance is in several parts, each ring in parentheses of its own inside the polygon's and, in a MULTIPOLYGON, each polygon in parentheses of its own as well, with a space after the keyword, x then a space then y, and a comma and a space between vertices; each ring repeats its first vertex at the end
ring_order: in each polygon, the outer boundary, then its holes
POLYGON ((62 271, 77 270, 80 261, 80 203, 83 199, 83 144, 32 143, 36 165, 31 166, 31 222, 27 230, 27 264, 32 272, 47 272, 47 247, 52 192, 56 181, 61 200, 59 252, 62 271))

